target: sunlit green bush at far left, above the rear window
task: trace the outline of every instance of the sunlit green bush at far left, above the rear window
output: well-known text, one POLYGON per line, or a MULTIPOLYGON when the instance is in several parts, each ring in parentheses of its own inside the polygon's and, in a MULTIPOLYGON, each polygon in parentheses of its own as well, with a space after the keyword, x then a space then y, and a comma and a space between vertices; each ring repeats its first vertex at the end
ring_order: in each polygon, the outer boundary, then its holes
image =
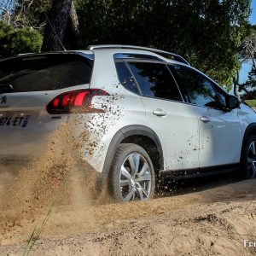
POLYGON ((0 56, 7 57, 28 52, 39 52, 43 37, 30 27, 15 29, 0 21, 0 56))

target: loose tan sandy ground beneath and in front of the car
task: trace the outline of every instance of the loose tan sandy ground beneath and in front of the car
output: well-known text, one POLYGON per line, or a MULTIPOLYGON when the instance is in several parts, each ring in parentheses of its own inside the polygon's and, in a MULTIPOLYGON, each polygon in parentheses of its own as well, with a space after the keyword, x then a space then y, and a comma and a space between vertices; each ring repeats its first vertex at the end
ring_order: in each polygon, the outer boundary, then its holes
MULTIPOLYGON (((243 245, 244 240, 256 241, 255 184, 215 177, 213 182, 177 184, 175 191, 184 195, 166 196, 173 188, 167 186, 164 195, 147 202, 87 201, 81 211, 73 204, 59 204, 31 255, 256 255, 256 248, 243 245)), ((47 207, 40 212, 9 223, 2 232, 1 255, 24 253, 47 207)))

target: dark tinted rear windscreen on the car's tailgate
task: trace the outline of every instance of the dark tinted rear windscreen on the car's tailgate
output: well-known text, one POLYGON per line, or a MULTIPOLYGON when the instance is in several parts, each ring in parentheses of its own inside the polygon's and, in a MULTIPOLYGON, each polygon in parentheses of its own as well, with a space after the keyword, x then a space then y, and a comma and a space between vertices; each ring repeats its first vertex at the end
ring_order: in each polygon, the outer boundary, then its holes
POLYGON ((92 61, 75 54, 19 56, 0 61, 0 92, 58 90, 89 84, 92 61))

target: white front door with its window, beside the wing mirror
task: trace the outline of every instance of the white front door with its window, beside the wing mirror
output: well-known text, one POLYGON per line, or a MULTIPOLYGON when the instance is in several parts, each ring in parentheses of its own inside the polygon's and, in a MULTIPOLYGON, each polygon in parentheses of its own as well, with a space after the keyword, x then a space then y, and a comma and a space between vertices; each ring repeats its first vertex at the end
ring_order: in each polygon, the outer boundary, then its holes
POLYGON ((241 124, 237 109, 224 110, 227 94, 193 68, 172 65, 172 70, 182 82, 190 104, 197 106, 200 166, 239 163, 241 124))

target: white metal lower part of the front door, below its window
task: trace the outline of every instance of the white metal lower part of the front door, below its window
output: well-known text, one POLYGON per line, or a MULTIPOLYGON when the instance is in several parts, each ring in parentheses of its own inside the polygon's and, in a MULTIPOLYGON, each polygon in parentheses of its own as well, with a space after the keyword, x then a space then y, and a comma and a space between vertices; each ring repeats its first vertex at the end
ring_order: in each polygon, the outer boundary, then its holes
POLYGON ((241 123, 237 109, 230 112, 197 107, 200 127, 200 166, 218 166, 240 162, 241 123), (205 117, 209 122, 201 121, 205 117))

